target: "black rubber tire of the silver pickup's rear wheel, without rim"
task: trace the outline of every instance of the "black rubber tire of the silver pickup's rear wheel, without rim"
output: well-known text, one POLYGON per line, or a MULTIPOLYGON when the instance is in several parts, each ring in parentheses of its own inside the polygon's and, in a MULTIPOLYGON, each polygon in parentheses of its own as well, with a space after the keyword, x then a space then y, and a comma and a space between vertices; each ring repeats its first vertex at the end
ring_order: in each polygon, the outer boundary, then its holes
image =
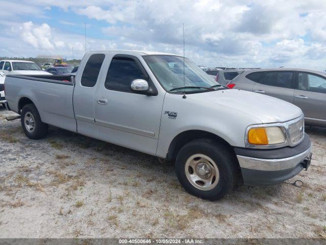
POLYGON ((22 108, 20 121, 21 121, 21 127, 25 135, 30 139, 43 138, 47 133, 48 125, 44 124, 41 121, 40 114, 34 104, 27 104, 22 108), (31 130, 29 131, 28 128, 26 128, 27 126, 25 125, 24 122, 24 118, 26 114, 32 114, 34 117, 35 124, 32 132, 30 132, 31 130))

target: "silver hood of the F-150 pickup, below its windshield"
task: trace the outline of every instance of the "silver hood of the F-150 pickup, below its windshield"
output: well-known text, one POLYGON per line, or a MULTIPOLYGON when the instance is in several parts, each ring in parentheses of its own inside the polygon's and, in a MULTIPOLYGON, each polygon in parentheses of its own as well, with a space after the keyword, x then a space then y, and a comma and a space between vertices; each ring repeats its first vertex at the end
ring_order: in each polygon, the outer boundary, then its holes
POLYGON ((187 98, 244 112, 261 120, 263 124, 284 122, 303 114, 300 108, 286 101, 238 89, 187 94, 187 98))

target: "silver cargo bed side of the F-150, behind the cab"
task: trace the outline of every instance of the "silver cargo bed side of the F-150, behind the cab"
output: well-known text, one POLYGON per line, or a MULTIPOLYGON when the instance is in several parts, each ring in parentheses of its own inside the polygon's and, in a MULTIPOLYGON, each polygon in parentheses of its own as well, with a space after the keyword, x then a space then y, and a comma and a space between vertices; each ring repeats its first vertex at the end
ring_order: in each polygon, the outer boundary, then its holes
POLYGON ((21 105, 32 101, 46 124, 76 132, 73 111, 74 76, 8 75, 6 100, 12 111, 20 113, 21 105))

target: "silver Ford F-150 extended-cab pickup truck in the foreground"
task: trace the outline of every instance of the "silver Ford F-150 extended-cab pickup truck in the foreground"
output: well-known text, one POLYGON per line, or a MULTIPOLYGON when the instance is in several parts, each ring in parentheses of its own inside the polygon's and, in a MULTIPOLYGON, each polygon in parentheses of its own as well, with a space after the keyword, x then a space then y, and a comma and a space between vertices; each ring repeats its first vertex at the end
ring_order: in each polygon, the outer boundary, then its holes
POLYGON ((203 199, 237 181, 281 183, 311 160, 298 107, 223 87, 177 55, 89 52, 75 77, 9 75, 5 89, 28 137, 53 125, 175 161, 184 189, 203 199))

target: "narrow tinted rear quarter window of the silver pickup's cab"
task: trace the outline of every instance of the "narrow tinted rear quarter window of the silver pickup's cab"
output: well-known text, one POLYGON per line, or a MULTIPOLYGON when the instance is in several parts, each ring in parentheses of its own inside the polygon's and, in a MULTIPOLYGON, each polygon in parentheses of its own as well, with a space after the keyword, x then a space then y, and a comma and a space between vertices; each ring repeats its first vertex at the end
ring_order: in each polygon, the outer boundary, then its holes
POLYGON ((82 79, 80 80, 80 84, 84 87, 94 87, 97 78, 102 67, 105 55, 104 54, 93 54, 88 59, 82 79))

